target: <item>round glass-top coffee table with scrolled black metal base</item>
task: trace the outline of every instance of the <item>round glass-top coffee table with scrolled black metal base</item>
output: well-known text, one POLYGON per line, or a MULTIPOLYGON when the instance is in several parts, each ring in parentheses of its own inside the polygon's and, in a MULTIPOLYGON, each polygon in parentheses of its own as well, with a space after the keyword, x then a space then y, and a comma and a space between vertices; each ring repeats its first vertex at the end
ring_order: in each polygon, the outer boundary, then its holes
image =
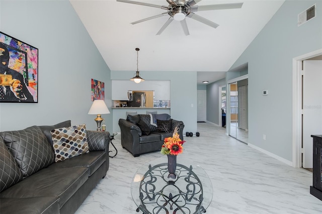
POLYGON ((168 178, 168 159, 154 159, 135 173, 131 194, 135 204, 148 213, 203 213, 212 200, 207 173, 191 159, 177 157, 176 179, 168 178))

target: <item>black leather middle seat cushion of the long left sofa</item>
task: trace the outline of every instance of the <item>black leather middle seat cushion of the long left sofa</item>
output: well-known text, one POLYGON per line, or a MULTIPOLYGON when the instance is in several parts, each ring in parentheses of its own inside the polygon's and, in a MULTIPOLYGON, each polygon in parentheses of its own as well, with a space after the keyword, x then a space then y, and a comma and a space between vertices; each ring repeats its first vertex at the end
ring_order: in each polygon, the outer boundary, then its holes
POLYGON ((54 196, 59 207, 88 180, 88 168, 45 168, 1 193, 1 198, 54 196))

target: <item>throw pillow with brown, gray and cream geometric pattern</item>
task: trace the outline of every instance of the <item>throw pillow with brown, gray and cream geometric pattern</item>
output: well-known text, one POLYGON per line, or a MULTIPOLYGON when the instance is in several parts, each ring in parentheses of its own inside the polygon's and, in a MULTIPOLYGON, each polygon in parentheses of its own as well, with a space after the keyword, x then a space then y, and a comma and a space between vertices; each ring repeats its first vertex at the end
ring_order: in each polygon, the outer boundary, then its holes
POLYGON ((85 124, 51 130, 55 162, 89 152, 85 124))

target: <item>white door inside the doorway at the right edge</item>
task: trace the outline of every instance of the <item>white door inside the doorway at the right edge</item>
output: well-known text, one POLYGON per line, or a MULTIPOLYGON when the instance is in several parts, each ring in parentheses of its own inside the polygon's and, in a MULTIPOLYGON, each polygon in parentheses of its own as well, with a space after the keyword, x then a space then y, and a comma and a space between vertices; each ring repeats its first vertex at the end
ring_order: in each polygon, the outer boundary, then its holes
POLYGON ((311 135, 322 134, 322 61, 303 64, 303 168, 313 168, 311 135))

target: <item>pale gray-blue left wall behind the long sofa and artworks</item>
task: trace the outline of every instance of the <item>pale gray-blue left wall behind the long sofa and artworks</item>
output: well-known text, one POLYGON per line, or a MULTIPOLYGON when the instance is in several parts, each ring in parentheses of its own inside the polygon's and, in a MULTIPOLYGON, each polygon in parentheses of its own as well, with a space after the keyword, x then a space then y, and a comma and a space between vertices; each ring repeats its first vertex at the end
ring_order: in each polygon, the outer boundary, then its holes
MULTIPOLYGON (((71 120, 96 130, 91 79, 105 82, 111 105, 110 71, 69 1, 0 1, 0 30, 39 49, 38 103, 0 103, 0 131, 71 120)), ((103 115, 108 131, 112 114, 103 115)))

